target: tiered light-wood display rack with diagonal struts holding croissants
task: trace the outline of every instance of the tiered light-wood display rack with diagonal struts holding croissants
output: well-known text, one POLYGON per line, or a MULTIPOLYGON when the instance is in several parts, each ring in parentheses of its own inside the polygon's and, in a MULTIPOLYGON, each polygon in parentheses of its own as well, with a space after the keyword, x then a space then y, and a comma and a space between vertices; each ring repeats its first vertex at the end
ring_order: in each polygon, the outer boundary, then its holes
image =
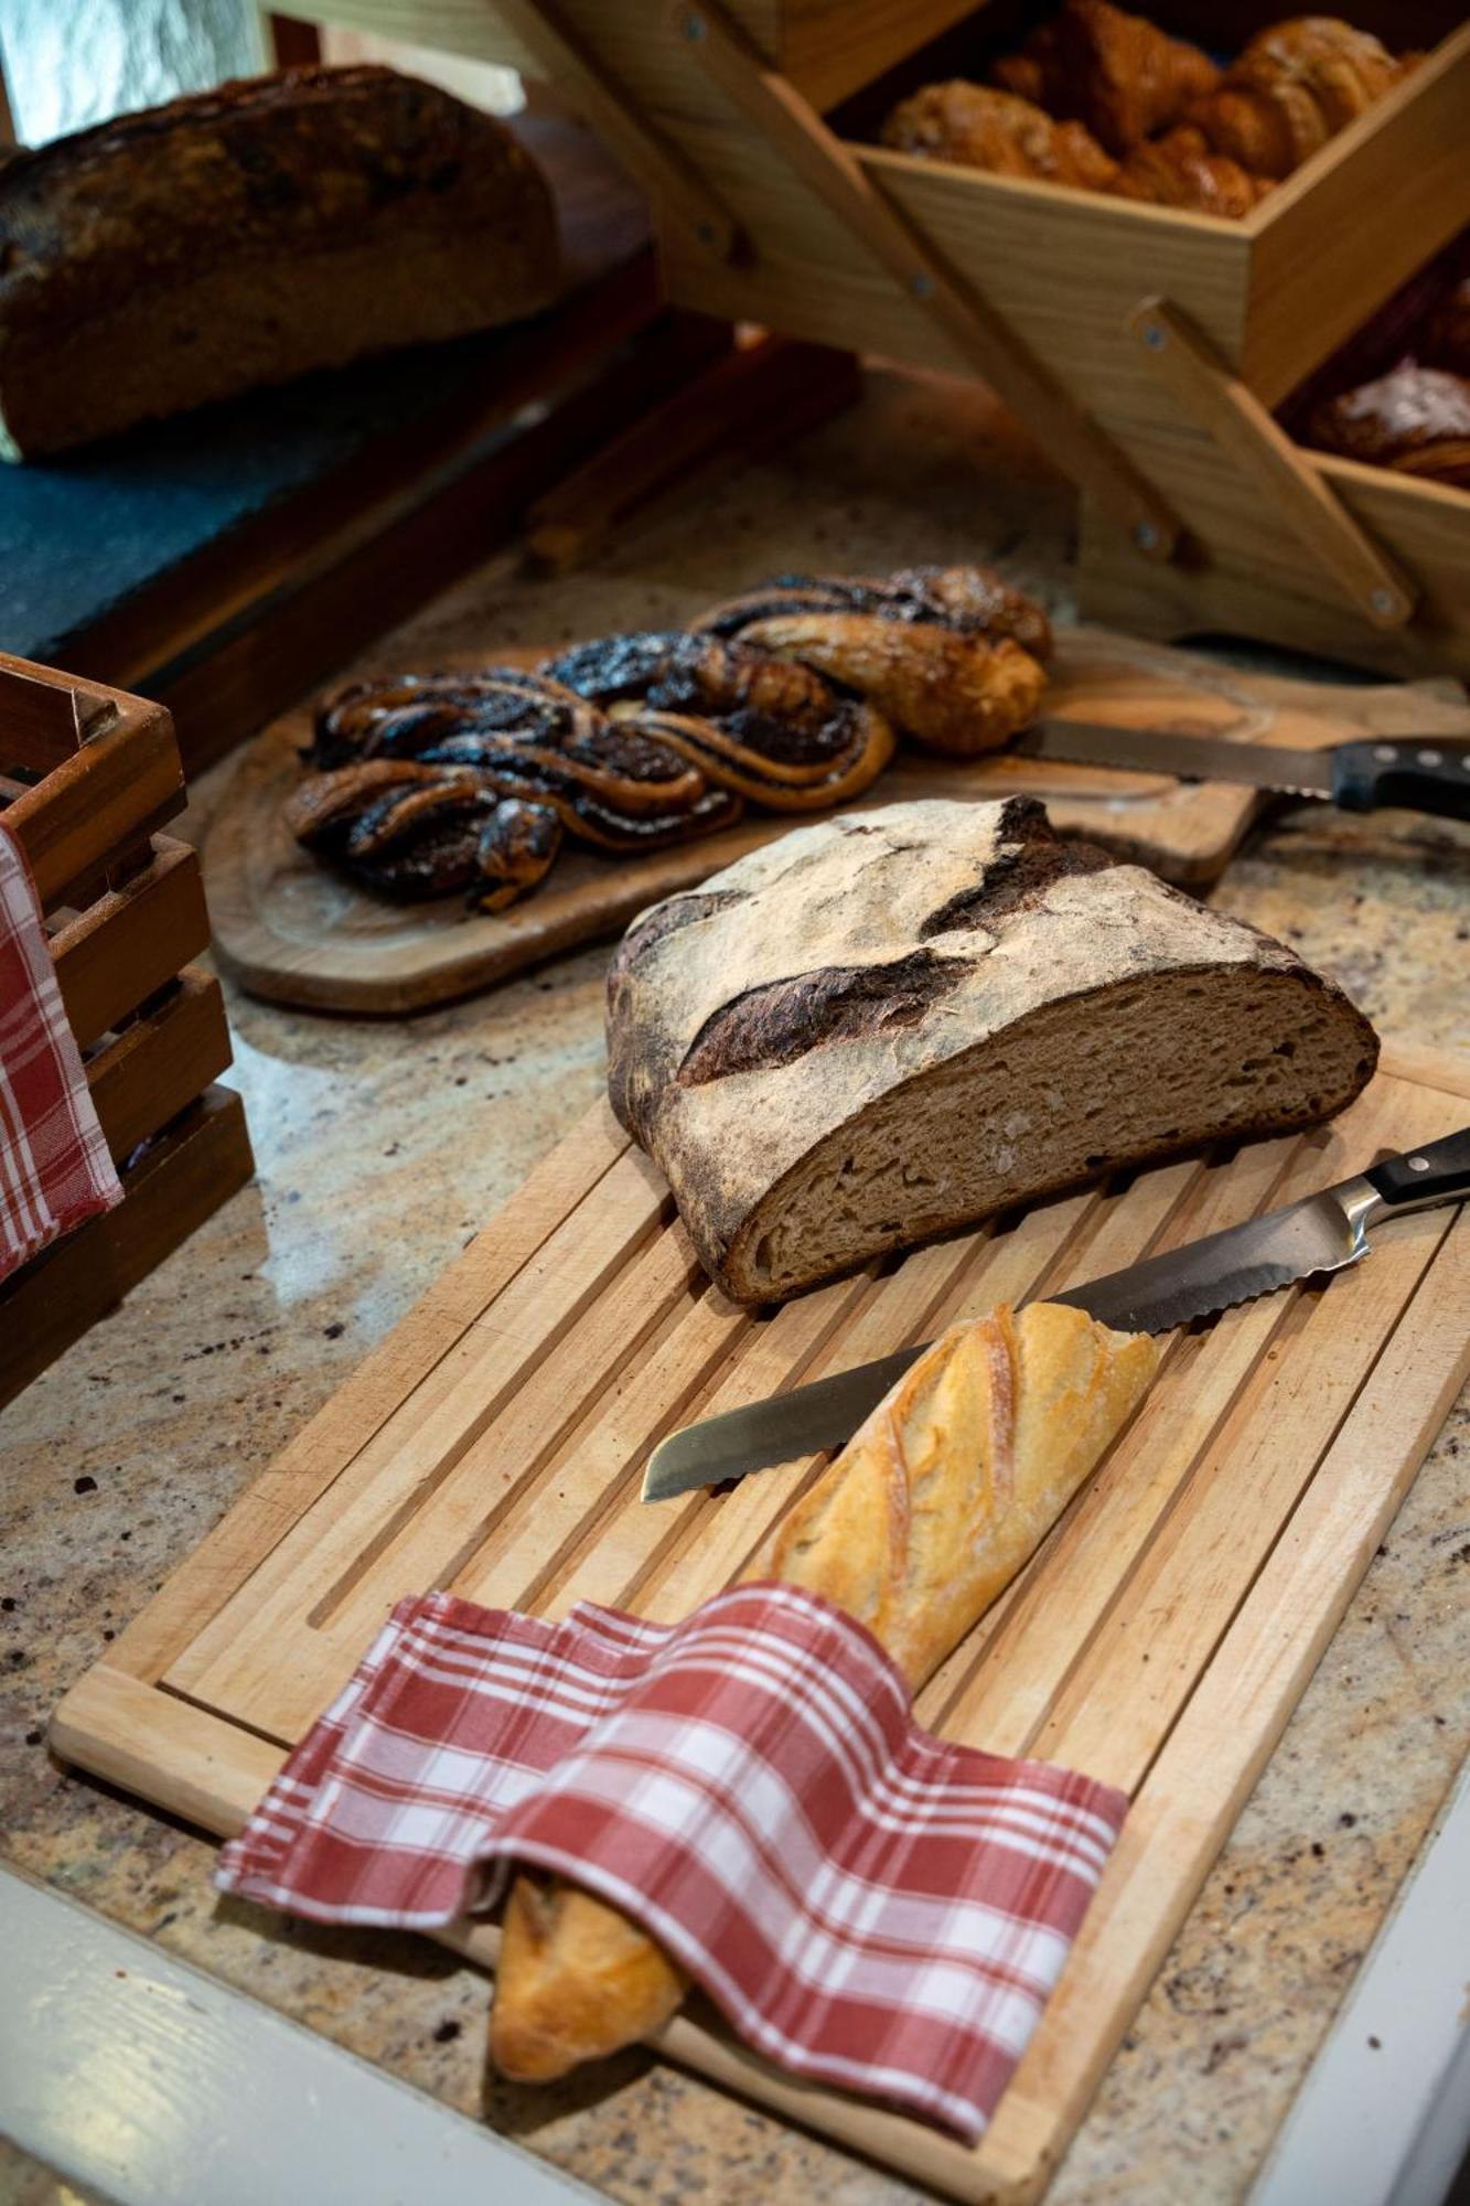
MULTIPOLYGON (((967 13, 333 0, 331 20, 552 82, 653 199, 678 304, 993 384, 1084 492, 1088 613, 1470 673, 1470 494, 1304 452, 1269 413, 1470 221, 1470 24, 1380 9, 1384 35, 1432 51, 1232 223, 830 128, 823 113, 901 64, 923 82, 918 49, 967 13)), ((1223 44, 1280 9, 1152 13, 1223 44)), ((1371 0, 1351 13, 1368 24, 1371 0)))

